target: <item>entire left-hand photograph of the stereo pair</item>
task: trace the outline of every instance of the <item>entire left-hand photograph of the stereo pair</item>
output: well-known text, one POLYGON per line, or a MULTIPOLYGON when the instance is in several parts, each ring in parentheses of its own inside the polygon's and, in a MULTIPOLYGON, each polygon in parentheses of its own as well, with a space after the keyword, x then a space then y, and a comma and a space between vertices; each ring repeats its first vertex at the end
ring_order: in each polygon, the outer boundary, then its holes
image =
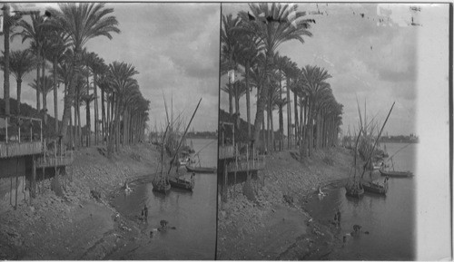
POLYGON ((214 259, 221 5, 1 6, 0 259, 214 259))

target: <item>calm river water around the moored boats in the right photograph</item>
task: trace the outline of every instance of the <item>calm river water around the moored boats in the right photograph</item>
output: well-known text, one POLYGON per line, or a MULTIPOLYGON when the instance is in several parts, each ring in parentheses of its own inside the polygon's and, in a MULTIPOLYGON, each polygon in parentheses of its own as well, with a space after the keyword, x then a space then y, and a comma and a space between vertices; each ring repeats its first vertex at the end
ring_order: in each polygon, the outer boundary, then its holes
MULTIPOLYGON (((386 143, 390 156, 402 147, 403 143, 386 143)), ((414 176, 415 158, 418 144, 410 144, 394 157, 395 170, 411 170, 414 176)), ((383 177, 378 176, 382 182, 383 177)), ((413 260, 415 259, 415 179, 390 178, 386 195, 367 193, 361 199, 345 196, 345 189, 325 189, 328 195, 322 199, 313 198, 305 207, 312 217, 333 220, 337 209, 341 211, 341 228, 337 237, 353 231, 353 225, 362 227, 370 234, 347 237, 344 247, 333 252, 332 259, 340 260, 413 260)))

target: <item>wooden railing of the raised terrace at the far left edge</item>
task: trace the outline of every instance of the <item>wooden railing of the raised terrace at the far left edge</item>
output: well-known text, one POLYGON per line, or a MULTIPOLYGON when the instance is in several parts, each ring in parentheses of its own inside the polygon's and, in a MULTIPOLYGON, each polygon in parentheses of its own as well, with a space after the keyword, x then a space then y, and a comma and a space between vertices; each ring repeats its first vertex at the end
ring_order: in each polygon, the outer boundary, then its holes
POLYGON ((0 159, 17 156, 35 155, 43 152, 41 141, 28 142, 0 142, 0 159))

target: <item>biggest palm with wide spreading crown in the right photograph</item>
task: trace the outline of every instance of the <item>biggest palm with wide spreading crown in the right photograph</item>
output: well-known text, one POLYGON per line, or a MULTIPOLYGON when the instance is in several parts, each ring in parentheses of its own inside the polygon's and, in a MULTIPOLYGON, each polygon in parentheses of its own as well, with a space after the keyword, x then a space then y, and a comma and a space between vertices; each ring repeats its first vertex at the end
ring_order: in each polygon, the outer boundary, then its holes
MULTIPOLYGON (((254 35, 255 39, 260 39, 264 46, 265 66, 268 68, 272 63, 271 58, 276 49, 284 42, 290 40, 298 40, 304 44, 303 35, 311 36, 308 30, 311 27, 311 20, 301 19, 306 15, 305 12, 297 12, 296 5, 281 5, 272 3, 250 4, 251 13, 255 20, 250 20, 246 12, 240 12, 239 16, 242 19, 241 27, 238 30, 246 34, 254 35), (294 15, 293 15, 294 14, 294 15), (272 17, 280 22, 267 22, 259 17, 272 17)), ((269 69, 268 69, 269 70, 269 69)), ((268 81, 269 82, 269 81, 268 81)), ((259 96, 257 103, 257 112, 254 121, 254 139, 259 138, 260 124, 263 119, 263 110, 265 108, 265 100, 267 94, 267 85, 262 88, 262 93, 259 96)))

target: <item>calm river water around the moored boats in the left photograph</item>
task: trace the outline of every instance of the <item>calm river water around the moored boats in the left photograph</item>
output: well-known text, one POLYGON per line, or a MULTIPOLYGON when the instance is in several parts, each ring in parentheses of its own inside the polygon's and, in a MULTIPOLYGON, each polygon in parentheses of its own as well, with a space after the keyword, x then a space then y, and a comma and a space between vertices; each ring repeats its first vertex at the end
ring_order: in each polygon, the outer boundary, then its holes
MULTIPOLYGON (((217 142, 192 140, 193 148, 200 152, 202 166, 214 167, 217 162, 217 142)), ((155 231, 153 238, 121 259, 214 259, 216 244, 216 175, 196 174, 192 192, 171 189, 167 196, 153 192, 148 180, 131 183, 133 192, 119 194, 112 205, 122 215, 133 218, 148 207, 148 224, 144 232, 160 227, 160 220, 169 221, 166 232, 155 231)))

